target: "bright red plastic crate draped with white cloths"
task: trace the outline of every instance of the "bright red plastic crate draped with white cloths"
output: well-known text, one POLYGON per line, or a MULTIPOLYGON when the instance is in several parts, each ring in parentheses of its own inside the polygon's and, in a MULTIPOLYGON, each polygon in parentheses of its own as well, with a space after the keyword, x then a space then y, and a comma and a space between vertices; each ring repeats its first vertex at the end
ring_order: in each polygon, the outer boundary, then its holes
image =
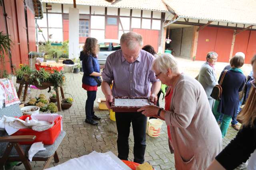
MULTIPOLYGON (((25 120, 27 117, 31 119, 30 115, 23 115, 19 117, 19 119, 25 120)), ((21 145, 31 145, 32 143, 42 142, 44 145, 52 145, 55 139, 60 134, 61 130, 61 119, 62 117, 59 116, 54 120, 54 125, 50 129, 45 131, 34 131, 32 129, 20 129, 16 133, 12 135, 35 135, 36 139, 32 142, 20 142, 21 145)))

